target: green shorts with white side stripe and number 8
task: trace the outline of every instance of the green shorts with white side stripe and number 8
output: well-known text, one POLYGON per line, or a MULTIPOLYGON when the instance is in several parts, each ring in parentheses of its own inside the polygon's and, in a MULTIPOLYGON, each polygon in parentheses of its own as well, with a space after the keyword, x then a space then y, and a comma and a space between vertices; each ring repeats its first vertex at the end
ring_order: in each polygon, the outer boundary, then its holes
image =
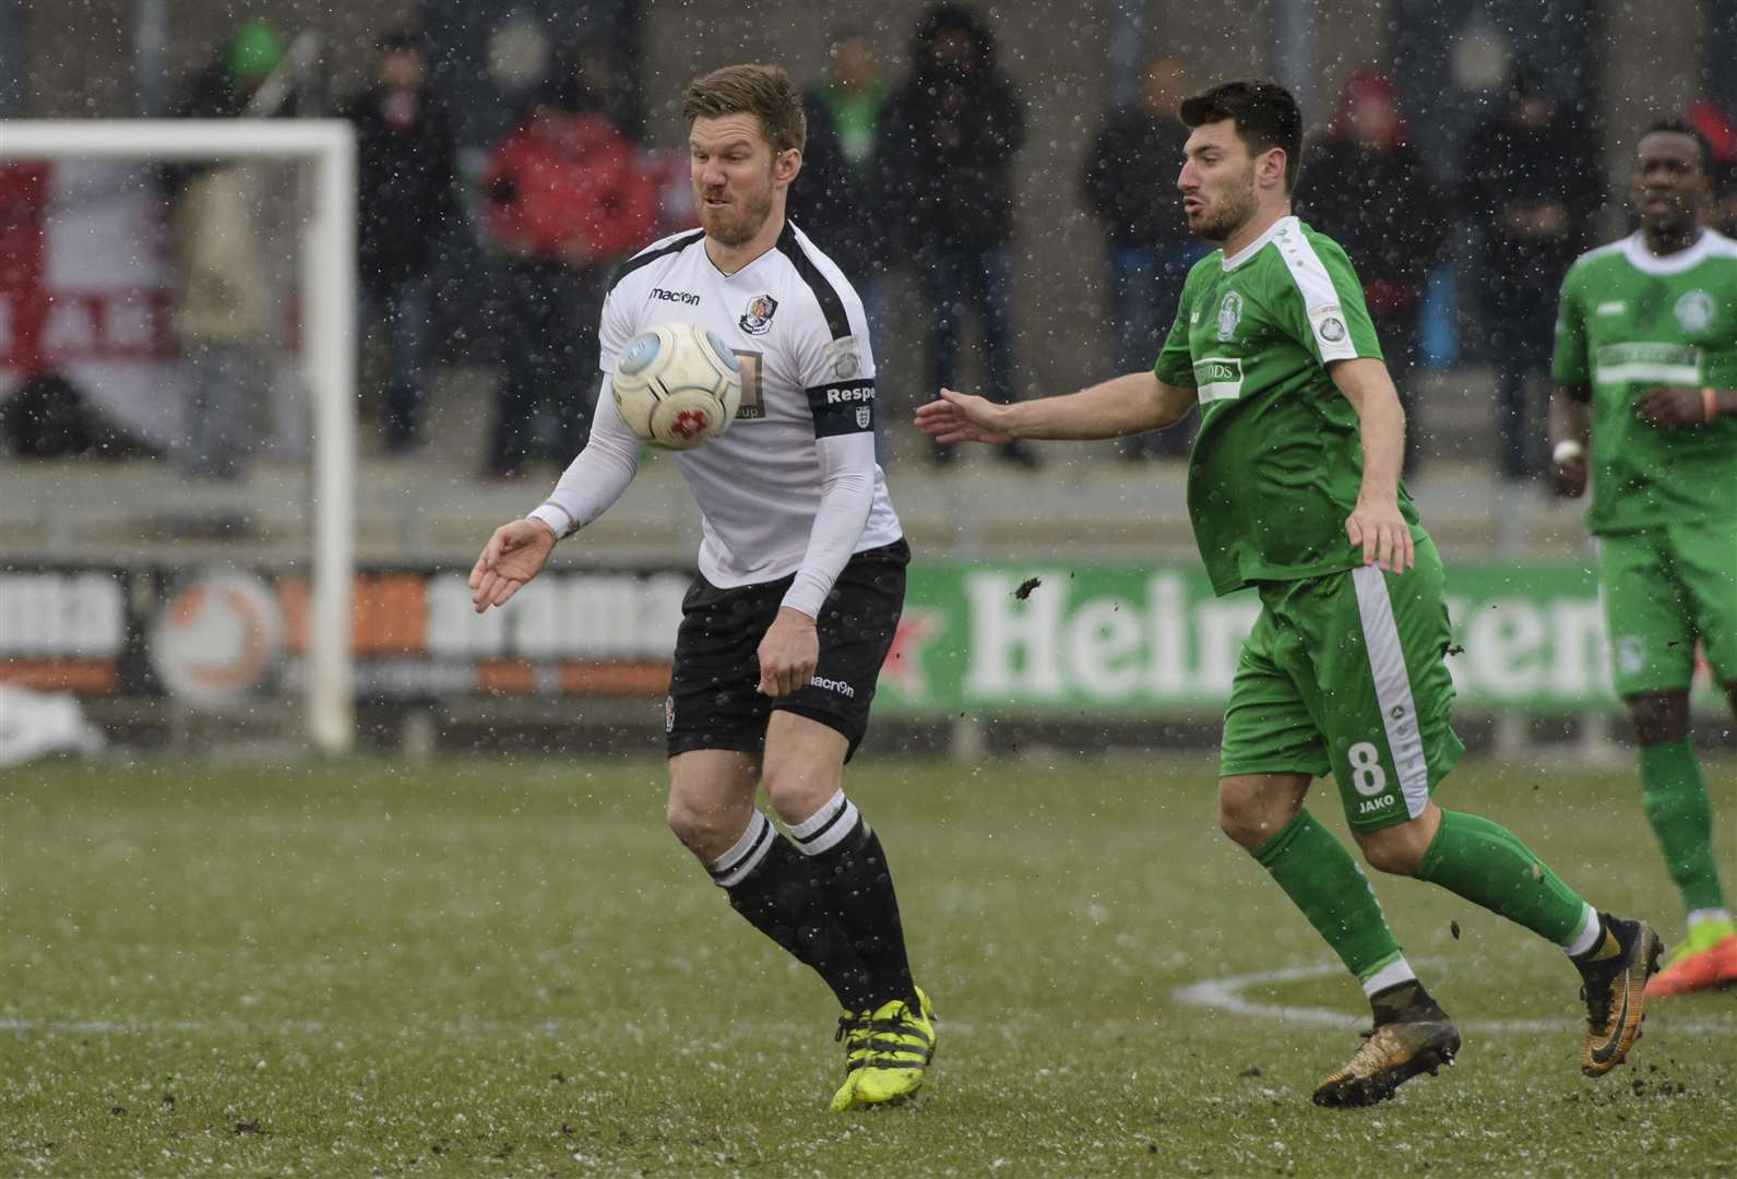
POLYGON ((1414 533, 1417 564, 1261 587, 1225 712, 1221 776, 1331 773, 1344 818, 1372 832, 1423 814, 1464 752, 1442 556, 1414 533))

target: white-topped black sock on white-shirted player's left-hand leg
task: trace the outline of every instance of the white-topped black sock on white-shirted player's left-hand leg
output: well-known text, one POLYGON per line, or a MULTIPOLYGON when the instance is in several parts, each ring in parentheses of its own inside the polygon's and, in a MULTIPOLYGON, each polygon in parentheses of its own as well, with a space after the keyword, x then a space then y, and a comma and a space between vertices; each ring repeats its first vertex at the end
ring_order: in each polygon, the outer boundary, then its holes
POLYGON ((813 865, 764 814, 754 811, 736 846, 707 872, 730 896, 733 910, 825 979, 841 1007, 865 1011, 870 1005, 863 962, 832 919, 813 865))

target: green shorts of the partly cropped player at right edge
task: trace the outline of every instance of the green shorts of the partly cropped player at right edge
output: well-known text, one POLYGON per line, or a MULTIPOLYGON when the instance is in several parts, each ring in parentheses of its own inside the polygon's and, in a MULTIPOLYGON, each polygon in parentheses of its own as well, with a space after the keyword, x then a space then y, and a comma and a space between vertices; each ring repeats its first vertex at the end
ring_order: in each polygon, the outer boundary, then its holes
POLYGON ((1687 691, 1701 639, 1737 682, 1737 524, 1687 521, 1602 537, 1598 587, 1619 696, 1687 691))

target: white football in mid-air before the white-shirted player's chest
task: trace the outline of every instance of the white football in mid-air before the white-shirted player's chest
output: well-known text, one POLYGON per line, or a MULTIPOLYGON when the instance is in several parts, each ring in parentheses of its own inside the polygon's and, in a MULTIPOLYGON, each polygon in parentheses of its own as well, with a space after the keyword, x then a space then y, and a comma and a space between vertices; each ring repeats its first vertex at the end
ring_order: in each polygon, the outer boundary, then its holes
POLYGON ((634 434, 665 450, 690 450, 730 429, 742 406, 742 368, 717 333, 672 319, 627 342, 610 391, 634 434))

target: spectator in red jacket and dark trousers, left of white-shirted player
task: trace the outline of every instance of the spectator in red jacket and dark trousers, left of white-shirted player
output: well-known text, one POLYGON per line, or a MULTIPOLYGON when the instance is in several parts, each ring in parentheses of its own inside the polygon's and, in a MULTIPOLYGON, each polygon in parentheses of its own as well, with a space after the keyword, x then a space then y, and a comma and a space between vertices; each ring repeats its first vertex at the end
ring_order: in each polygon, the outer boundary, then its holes
POLYGON ((551 457, 585 448, 604 278, 646 243, 657 193, 577 69, 552 75, 495 144, 483 191, 488 231, 509 259, 505 373, 485 476, 514 479, 533 457, 542 408, 554 418, 551 457))

